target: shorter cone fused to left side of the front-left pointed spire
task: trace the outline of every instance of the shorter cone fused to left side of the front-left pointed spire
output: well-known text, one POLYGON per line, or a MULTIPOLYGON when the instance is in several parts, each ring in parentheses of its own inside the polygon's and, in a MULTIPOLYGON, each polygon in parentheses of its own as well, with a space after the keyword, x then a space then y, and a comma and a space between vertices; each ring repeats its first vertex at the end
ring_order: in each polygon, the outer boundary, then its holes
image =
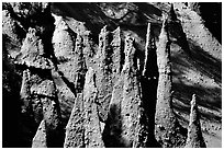
POLYGON ((64 142, 64 148, 83 148, 85 147, 85 127, 83 127, 83 95, 79 93, 75 104, 72 112, 70 114, 70 118, 66 126, 66 137, 64 142))

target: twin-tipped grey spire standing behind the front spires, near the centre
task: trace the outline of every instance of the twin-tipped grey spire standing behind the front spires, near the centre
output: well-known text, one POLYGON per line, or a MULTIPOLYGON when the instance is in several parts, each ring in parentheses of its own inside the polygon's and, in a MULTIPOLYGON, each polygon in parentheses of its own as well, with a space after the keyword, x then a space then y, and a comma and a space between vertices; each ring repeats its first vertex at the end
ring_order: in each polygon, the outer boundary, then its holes
POLYGON ((96 84, 99 91, 99 115, 102 122, 108 118, 112 88, 117 80, 122 68, 121 30, 112 33, 104 26, 99 35, 99 49, 96 55, 97 72, 96 84))

